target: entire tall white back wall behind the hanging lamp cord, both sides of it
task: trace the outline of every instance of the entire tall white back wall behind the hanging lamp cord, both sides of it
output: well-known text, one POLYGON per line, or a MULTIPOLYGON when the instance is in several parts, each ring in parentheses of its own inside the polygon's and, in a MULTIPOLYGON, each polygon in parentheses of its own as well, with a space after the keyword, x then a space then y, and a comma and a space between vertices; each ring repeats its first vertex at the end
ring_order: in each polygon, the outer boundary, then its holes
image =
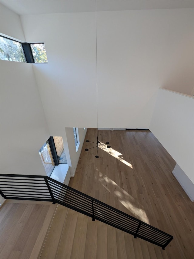
POLYGON ((191 94, 194 9, 22 15, 28 42, 45 42, 34 65, 49 129, 148 128, 159 87, 191 94), (97 98, 98 97, 98 98, 97 98))

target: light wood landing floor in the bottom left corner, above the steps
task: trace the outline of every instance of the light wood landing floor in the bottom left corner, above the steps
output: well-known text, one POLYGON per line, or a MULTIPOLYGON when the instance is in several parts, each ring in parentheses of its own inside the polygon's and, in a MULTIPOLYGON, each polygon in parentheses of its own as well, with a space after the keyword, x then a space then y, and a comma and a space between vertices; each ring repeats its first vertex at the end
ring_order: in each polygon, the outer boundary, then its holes
POLYGON ((0 210, 0 258, 39 258, 56 207, 52 203, 5 203, 0 210))

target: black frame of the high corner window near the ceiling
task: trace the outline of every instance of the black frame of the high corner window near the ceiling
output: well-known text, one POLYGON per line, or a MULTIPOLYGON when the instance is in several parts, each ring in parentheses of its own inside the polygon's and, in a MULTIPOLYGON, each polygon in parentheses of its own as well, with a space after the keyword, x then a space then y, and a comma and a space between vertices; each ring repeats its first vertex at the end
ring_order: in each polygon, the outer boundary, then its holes
POLYGON ((21 44, 22 46, 22 49, 23 49, 23 53, 24 53, 24 57, 25 57, 25 60, 26 62, 25 63, 32 63, 32 64, 48 64, 48 62, 38 62, 36 63, 34 61, 34 57, 32 55, 32 49, 30 47, 30 45, 32 44, 45 44, 44 42, 36 42, 36 43, 28 43, 28 42, 20 42, 18 40, 15 40, 15 39, 10 39, 8 37, 5 37, 3 35, 0 35, 1 37, 5 38, 5 39, 9 39, 9 40, 12 40, 12 41, 16 41, 18 43, 21 44))

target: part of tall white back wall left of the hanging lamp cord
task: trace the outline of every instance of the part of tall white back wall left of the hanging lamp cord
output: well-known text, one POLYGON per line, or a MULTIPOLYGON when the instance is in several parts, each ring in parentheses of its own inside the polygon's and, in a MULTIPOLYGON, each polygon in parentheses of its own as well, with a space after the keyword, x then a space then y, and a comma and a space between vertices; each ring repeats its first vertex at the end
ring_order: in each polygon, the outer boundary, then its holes
POLYGON ((28 42, 44 42, 34 71, 50 131, 97 126, 95 13, 22 16, 28 42), (86 123, 87 122, 87 123, 86 123))

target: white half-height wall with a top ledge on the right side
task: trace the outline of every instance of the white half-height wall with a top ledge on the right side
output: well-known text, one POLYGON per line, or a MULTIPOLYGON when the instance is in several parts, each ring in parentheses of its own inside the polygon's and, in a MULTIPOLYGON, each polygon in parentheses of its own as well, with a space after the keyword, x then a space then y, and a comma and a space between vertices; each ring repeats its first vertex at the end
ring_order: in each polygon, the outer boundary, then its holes
POLYGON ((159 89, 149 129, 194 183, 194 97, 159 89))

